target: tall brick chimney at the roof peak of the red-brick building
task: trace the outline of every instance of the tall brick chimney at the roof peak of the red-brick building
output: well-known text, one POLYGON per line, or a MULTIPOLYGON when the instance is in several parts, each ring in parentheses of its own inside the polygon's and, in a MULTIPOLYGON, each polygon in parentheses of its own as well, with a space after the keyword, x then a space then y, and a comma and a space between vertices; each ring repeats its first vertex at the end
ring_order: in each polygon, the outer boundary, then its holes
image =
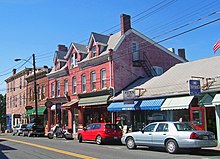
POLYGON ((126 33, 129 29, 131 29, 131 16, 126 14, 121 14, 121 35, 126 33))

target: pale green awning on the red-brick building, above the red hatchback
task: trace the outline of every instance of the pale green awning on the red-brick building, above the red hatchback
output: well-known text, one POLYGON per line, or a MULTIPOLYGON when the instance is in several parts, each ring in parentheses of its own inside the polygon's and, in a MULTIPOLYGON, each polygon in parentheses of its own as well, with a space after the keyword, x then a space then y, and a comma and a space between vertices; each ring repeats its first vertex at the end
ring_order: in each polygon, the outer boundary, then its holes
POLYGON ((85 97, 79 99, 79 106, 94 106, 107 104, 110 95, 85 97))

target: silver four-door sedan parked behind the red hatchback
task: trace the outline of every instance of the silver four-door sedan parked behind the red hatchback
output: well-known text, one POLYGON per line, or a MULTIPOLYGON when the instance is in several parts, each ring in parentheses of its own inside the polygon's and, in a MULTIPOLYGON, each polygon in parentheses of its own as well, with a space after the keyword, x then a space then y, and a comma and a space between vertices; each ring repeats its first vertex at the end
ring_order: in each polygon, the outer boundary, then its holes
POLYGON ((150 123, 139 132, 123 135, 121 141, 128 149, 137 146, 164 147, 169 153, 176 153, 181 148, 217 146, 213 132, 197 131, 190 123, 185 122, 150 123))

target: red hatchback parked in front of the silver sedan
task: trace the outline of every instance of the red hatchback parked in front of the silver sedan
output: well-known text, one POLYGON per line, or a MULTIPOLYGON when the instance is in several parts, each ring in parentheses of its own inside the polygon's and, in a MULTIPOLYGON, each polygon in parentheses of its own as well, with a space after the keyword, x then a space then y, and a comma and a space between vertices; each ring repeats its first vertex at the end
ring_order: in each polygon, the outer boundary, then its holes
POLYGON ((93 123, 78 132, 78 140, 95 141, 98 145, 107 141, 120 141, 122 130, 117 124, 93 123))

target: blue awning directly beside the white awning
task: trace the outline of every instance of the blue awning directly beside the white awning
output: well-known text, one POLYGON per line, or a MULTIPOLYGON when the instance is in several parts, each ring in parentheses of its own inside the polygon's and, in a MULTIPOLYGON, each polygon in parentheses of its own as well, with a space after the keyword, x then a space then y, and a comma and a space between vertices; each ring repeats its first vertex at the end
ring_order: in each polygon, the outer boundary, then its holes
POLYGON ((165 99, 142 100, 141 110, 159 110, 165 99))

